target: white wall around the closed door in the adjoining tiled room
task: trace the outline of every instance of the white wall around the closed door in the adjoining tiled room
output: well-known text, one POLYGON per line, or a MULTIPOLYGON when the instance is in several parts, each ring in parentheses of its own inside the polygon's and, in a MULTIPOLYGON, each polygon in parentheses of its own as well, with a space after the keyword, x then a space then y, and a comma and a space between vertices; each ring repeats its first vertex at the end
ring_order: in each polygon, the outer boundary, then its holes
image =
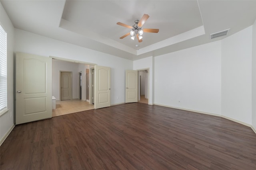
POLYGON ((72 99, 79 98, 79 64, 52 60, 52 96, 60 100, 60 71, 72 72, 72 99))

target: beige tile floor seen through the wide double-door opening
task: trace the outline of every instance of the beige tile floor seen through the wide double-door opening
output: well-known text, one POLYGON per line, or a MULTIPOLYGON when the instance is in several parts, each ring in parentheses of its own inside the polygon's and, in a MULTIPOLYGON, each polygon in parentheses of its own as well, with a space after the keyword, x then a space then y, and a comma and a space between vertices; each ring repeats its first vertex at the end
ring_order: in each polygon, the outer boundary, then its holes
POLYGON ((74 99, 56 101, 56 109, 52 109, 52 117, 90 109, 94 109, 94 105, 83 100, 74 99))

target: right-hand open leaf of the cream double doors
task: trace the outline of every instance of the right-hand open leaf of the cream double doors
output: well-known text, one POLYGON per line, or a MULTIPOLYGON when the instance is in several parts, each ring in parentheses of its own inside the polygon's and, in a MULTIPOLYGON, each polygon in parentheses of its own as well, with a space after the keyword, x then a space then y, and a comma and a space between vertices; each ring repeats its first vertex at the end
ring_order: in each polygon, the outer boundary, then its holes
POLYGON ((94 109, 110 106, 111 68, 94 66, 94 109))

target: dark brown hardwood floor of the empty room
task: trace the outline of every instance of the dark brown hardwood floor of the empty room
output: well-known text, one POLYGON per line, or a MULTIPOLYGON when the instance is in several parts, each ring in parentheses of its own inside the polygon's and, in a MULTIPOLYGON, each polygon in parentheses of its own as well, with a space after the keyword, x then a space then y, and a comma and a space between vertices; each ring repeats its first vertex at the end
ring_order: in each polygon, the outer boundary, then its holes
POLYGON ((16 125, 1 170, 256 170, 256 134, 222 117, 142 103, 16 125))

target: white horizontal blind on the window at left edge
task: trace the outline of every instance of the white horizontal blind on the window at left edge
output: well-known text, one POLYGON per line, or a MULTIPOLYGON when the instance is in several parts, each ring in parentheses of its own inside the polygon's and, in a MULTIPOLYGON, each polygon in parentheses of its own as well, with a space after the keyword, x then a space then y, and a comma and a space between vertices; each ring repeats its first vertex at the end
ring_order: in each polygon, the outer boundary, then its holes
POLYGON ((7 33, 0 25, 0 111, 7 109, 7 33))

